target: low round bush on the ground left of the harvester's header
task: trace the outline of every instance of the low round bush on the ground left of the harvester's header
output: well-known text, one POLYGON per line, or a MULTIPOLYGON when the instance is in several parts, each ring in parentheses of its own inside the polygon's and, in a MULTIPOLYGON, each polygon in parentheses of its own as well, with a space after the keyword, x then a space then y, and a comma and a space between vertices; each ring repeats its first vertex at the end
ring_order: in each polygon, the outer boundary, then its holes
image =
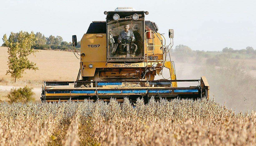
POLYGON ((7 98, 9 98, 10 102, 12 103, 26 103, 28 101, 35 101, 35 98, 33 97, 35 93, 32 92, 32 89, 33 88, 29 88, 28 86, 19 89, 11 89, 11 92, 7 95, 7 98))

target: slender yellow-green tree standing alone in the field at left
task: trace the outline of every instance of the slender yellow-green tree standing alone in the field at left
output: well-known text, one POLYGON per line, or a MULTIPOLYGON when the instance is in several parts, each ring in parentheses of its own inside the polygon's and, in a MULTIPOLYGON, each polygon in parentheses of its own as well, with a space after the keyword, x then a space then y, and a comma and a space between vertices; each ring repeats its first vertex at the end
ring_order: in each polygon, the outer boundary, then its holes
POLYGON ((26 69, 37 70, 36 64, 28 60, 29 54, 34 54, 31 48, 35 44, 36 38, 33 31, 31 33, 20 31, 15 40, 15 33, 11 32, 9 38, 3 35, 3 42, 8 47, 8 67, 6 74, 11 74, 16 79, 22 77, 26 69))

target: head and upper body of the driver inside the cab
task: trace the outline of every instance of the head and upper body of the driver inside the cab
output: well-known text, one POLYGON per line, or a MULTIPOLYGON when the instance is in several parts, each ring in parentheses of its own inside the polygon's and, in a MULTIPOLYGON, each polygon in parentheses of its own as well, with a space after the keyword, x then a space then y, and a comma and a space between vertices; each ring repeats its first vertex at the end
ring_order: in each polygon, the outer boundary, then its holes
POLYGON ((135 41, 135 37, 134 37, 133 32, 131 30, 129 30, 130 26, 129 25, 125 25, 124 28, 125 28, 125 30, 122 31, 119 34, 118 43, 122 43, 122 40, 127 42, 127 43, 130 43, 130 41, 134 42, 135 41))

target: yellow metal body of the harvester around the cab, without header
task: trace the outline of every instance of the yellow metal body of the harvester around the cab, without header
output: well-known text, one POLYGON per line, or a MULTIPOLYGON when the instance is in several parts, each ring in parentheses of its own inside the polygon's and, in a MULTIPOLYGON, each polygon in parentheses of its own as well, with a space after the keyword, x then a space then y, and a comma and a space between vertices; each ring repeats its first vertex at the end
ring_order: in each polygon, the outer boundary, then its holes
MULTIPOLYGON (((148 31, 145 32, 145 34, 148 31)), ((81 76, 87 80, 96 80, 105 78, 138 78, 141 79, 141 71, 150 68, 154 63, 156 71, 148 72, 145 75, 146 80, 154 80, 154 76, 163 69, 163 38, 160 33, 150 31, 152 38, 144 40, 144 60, 132 63, 109 63, 107 62, 107 36, 106 34, 84 34, 81 39, 81 76), (162 47, 162 48, 161 48, 162 47), (149 59, 149 58, 154 58, 149 59), (89 65, 93 67, 90 68, 89 65), (93 78, 94 77, 94 78, 93 78)), ((172 66, 166 66, 171 69, 172 79, 176 79, 175 71, 172 66), (174 77, 175 76, 175 77, 174 77)), ((177 83, 175 83, 177 86, 177 83)))

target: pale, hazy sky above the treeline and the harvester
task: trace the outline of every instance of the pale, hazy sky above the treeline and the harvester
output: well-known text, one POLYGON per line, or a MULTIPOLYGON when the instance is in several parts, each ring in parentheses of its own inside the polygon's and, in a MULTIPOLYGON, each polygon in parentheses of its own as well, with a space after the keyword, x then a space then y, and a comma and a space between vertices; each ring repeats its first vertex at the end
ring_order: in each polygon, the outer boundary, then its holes
POLYGON ((168 30, 174 29, 174 46, 256 49, 255 0, 0 0, 0 37, 22 30, 67 42, 76 34, 81 40, 92 21, 105 20, 104 11, 116 7, 148 11, 145 19, 157 23, 167 43, 168 30))

